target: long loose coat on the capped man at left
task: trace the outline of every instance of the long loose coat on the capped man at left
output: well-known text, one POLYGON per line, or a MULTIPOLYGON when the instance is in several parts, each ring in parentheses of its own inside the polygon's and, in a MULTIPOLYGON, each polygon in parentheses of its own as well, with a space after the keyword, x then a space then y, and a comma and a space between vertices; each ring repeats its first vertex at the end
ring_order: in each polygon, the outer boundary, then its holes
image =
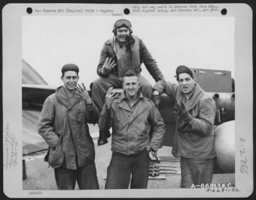
POLYGON ((97 108, 86 107, 76 93, 70 102, 63 86, 48 96, 38 123, 38 133, 50 146, 49 165, 77 169, 95 159, 95 150, 87 123, 97 123, 97 108), (64 160, 65 157, 65 160, 64 160), (77 164, 76 164, 77 157, 77 164))

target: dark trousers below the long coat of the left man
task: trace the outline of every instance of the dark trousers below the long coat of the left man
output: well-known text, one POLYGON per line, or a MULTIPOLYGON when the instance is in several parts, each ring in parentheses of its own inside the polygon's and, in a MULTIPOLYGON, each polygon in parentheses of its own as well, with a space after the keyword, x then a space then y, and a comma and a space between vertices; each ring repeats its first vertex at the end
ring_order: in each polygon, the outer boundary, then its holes
POLYGON ((59 190, 74 190, 76 181, 80 190, 99 189, 95 162, 75 170, 59 167, 54 169, 54 174, 59 190))

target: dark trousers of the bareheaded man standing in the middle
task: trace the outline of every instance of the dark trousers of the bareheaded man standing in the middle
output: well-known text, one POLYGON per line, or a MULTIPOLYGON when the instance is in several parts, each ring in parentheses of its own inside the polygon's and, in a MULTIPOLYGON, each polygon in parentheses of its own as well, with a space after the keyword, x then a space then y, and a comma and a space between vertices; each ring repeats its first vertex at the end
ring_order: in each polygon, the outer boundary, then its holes
POLYGON ((149 155, 146 150, 133 155, 113 152, 106 180, 106 189, 147 188, 149 155))

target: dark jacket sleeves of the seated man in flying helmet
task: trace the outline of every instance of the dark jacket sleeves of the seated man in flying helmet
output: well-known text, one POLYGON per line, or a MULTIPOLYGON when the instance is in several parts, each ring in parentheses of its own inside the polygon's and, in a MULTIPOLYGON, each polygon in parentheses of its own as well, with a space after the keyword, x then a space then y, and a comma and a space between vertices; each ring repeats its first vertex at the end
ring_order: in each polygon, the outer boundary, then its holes
MULTIPOLYGON (((144 63, 146 66, 148 72, 154 80, 157 82, 159 80, 164 80, 163 73, 159 70, 157 63, 154 58, 152 58, 150 52, 148 51, 145 44, 142 42, 142 40, 139 38, 139 44, 140 44, 140 59, 141 63, 144 63)), ((100 53, 100 60, 99 65, 97 66, 97 74, 101 77, 107 77, 107 74, 103 74, 102 66, 104 65, 104 62, 107 58, 115 58, 115 52, 113 50, 113 47, 111 45, 111 40, 109 39, 107 42, 104 43, 101 53, 100 53)), ((111 73, 117 73, 118 66, 111 70, 111 73)))

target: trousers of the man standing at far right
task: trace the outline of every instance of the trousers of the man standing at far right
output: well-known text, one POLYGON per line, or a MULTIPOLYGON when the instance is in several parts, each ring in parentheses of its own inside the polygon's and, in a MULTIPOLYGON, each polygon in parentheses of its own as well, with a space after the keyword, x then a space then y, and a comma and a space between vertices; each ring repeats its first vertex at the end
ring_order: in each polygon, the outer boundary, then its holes
POLYGON ((211 184, 214 169, 214 158, 193 159, 180 157, 181 188, 200 187, 201 184, 211 184))

